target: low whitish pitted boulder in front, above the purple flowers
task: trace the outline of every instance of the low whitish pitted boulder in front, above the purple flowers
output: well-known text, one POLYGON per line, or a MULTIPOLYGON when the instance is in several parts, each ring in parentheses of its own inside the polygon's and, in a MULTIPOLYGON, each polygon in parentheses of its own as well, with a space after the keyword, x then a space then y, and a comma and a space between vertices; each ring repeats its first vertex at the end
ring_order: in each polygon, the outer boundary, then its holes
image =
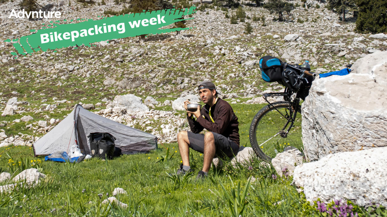
POLYGON ((296 167, 293 183, 308 201, 341 198, 366 206, 387 206, 387 147, 328 155, 296 167))

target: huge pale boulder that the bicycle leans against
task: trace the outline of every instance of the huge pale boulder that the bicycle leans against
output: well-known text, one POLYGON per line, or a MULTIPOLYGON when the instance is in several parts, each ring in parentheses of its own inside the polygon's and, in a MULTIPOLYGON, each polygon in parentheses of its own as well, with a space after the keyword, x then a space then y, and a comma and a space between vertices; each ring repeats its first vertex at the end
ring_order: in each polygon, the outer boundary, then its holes
POLYGON ((307 157, 387 146, 387 51, 358 59, 346 76, 317 79, 302 104, 307 157))

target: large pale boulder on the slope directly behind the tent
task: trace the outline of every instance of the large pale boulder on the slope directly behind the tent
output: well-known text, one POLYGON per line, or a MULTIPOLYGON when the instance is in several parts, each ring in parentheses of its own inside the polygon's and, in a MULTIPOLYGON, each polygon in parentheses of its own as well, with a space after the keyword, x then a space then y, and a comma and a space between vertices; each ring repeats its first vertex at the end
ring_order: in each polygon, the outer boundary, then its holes
POLYGON ((142 99, 133 94, 115 96, 113 107, 125 107, 128 112, 149 111, 149 108, 142 103, 142 99))

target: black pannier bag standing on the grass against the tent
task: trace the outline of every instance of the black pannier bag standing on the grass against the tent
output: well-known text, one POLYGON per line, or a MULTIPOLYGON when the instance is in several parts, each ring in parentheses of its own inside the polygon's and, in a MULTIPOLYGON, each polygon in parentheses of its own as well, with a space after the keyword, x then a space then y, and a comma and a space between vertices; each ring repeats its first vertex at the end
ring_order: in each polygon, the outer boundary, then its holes
POLYGON ((92 157, 99 157, 105 159, 113 158, 115 155, 115 144, 116 138, 110 133, 90 133, 90 151, 92 157), (106 155, 106 157, 105 157, 106 155))

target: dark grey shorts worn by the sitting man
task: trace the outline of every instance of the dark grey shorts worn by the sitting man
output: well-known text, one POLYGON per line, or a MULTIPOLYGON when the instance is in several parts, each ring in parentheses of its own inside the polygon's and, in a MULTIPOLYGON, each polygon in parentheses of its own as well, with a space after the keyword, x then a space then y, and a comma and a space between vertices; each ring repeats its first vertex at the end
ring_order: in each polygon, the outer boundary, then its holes
MULTIPOLYGON (((238 153, 239 145, 231 141, 226 136, 219 133, 211 132, 215 140, 215 157, 223 158, 225 156, 232 157, 238 153)), ((189 147, 200 153, 204 152, 204 135, 200 133, 192 133, 187 131, 189 147)))

